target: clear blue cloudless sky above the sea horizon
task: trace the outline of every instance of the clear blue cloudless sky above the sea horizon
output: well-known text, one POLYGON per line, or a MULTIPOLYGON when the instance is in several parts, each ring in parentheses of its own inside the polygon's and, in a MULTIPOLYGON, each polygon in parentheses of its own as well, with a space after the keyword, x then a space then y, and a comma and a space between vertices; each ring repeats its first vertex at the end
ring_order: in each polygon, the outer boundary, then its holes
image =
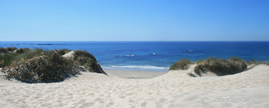
POLYGON ((1 0, 0 41, 269 41, 269 0, 1 0))

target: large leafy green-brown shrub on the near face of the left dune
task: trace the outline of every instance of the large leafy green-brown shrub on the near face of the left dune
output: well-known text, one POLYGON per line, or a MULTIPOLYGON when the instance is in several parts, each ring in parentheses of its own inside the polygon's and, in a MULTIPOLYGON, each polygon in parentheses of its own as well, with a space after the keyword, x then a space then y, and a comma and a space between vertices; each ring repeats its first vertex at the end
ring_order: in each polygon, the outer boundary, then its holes
POLYGON ((41 54, 43 55, 12 62, 3 70, 6 70, 8 77, 13 76, 21 81, 28 79, 30 82, 61 81, 65 75, 79 73, 73 61, 63 58, 59 53, 51 50, 41 54))

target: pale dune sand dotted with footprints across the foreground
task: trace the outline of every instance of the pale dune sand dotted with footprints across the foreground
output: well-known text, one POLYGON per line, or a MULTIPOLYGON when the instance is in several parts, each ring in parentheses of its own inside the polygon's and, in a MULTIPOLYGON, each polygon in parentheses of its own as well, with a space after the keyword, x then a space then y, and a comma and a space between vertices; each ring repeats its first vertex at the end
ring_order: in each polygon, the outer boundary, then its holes
POLYGON ((269 66, 222 77, 189 77, 170 71, 151 79, 82 73, 49 84, 0 81, 0 107, 181 108, 269 107, 269 66), (263 102, 216 102, 215 98, 263 98, 263 102))

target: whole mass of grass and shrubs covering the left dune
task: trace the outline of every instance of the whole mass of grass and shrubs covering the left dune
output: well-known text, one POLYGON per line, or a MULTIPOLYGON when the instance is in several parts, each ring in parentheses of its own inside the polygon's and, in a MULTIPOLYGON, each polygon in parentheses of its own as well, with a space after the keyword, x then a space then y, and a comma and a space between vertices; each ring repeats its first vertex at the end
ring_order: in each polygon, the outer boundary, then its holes
POLYGON ((3 49, 7 51, 0 55, 0 67, 3 72, 7 73, 8 78, 14 77, 27 83, 62 81, 70 75, 79 74, 77 69, 79 65, 83 65, 91 72, 102 71, 96 58, 86 51, 76 50, 74 58, 64 58, 62 55, 71 50, 3 49))

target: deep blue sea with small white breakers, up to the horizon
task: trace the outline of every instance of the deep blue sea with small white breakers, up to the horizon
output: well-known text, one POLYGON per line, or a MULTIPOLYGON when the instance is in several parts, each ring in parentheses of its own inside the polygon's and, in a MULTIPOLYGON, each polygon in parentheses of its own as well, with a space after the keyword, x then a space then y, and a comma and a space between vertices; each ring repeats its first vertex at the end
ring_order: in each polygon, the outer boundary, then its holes
POLYGON ((207 57, 269 60, 269 42, 0 41, 0 47, 86 50, 103 69, 116 70, 168 71, 180 59, 195 61, 207 57))

